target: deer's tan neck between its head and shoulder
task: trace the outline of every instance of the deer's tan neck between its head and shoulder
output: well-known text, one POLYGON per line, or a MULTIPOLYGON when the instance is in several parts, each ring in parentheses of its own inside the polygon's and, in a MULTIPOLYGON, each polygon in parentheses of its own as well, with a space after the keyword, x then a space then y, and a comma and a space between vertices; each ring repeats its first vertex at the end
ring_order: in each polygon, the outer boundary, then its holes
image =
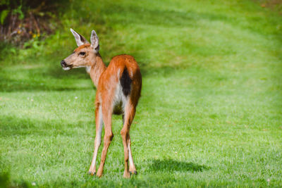
POLYGON ((96 63, 94 62, 92 63, 92 65, 86 67, 86 71, 87 73, 89 73, 95 87, 98 86, 99 78, 105 70, 106 70, 106 65, 104 64, 102 57, 98 53, 96 56, 96 63))

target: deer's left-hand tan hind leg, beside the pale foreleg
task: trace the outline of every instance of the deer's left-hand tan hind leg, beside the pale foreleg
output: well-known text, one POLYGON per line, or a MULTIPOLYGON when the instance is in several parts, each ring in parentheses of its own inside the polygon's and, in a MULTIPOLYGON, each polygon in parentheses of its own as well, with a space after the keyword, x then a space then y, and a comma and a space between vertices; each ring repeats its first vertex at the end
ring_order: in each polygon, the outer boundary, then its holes
POLYGON ((111 140, 114 137, 113 132, 111 131, 111 112, 109 109, 102 109, 103 111, 103 120, 105 125, 105 135, 104 135, 104 147, 101 156, 101 162, 99 165, 99 169, 97 172, 97 177, 101 177, 103 174, 104 163, 106 161, 106 152, 108 151, 109 145, 111 144, 111 140))

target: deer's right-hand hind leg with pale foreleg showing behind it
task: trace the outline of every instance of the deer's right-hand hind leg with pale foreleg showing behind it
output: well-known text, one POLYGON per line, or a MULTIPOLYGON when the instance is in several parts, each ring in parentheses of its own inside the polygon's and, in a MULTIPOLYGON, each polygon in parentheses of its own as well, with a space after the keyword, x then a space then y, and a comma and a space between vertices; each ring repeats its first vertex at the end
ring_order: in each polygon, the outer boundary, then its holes
POLYGON ((135 173, 136 168, 133 163, 133 157, 130 148, 130 125, 133 122, 135 115, 135 106, 131 104, 130 101, 125 106, 125 115, 123 117, 123 129, 121 130, 121 137, 123 138, 123 148, 124 148, 124 173, 123 177, 130 177, 130 173, 135 173), (128 160, 130 168, 128 169, 128 160))

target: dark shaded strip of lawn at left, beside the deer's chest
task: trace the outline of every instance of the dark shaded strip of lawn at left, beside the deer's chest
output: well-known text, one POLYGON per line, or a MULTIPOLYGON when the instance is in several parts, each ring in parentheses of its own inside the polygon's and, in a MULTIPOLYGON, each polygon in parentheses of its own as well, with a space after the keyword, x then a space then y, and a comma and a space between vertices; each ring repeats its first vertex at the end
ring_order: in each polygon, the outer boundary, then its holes
POLYGON ((75 91, 95 89, 85 69, 71 70, 69 72, 58 67, 23 68, 16 73, 1 73, 0 92, 18 91, 75 91), (16 76, 18 78, 16 78, 16 76), (80 81, 89 80, 88 84, 80 84, 80 81))

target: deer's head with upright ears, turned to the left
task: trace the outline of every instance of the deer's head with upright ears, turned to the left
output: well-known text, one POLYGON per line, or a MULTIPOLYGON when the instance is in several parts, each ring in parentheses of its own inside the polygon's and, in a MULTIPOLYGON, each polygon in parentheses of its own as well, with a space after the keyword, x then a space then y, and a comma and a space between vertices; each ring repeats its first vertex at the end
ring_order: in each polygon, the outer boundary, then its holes
POLYGON ((72 68, 90 67, 96 63, 96 56, 99 52, 99 38, 94 30, 91 32, 90 42, 87 42, 85 37, 71 29, 75 42, 78 48, 73 51, 73 54, 61 61, 63 70, 71 70, 72 68))

